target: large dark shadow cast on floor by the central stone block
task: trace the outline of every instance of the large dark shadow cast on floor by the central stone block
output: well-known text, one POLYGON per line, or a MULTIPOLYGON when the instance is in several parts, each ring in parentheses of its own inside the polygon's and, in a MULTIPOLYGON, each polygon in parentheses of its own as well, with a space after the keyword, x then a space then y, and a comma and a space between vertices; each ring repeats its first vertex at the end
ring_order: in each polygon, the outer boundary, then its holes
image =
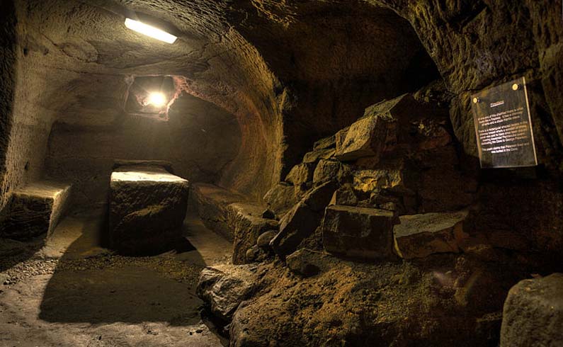
POLYGON ((116 256, 96 245, 105 224, 99 221, 81 223, 81 235, 64 251, 45 288, 39 318, 91 324, 200 322, 202 302, 195 286, 206 262, 198 250, 183 239, 168 254, 116 256))

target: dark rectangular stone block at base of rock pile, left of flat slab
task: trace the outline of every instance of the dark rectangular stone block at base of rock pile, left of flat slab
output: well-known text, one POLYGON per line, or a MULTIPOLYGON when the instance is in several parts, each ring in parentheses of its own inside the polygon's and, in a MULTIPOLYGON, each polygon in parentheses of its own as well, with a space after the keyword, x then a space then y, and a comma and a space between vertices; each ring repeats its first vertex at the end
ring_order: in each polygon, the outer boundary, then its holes
POLYGON ((392 258, 393 213, 375 208, 326 207, 322 240, 326 251, 353 258, 392 258))

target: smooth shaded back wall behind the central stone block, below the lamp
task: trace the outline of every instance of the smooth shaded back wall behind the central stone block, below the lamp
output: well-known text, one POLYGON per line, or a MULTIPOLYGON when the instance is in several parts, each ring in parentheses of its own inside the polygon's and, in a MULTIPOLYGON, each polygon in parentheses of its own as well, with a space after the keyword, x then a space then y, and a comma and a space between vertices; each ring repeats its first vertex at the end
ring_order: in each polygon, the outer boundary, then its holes
POLYGON ((188 181, 215 183, 239 152, 234 115, 186 93, 171 106, 167 122, 111 115, 77 118, 69 112, 53 126, 46 174, 72 182, 75 203, 106 203, 115 159, 166 160, 188 181))

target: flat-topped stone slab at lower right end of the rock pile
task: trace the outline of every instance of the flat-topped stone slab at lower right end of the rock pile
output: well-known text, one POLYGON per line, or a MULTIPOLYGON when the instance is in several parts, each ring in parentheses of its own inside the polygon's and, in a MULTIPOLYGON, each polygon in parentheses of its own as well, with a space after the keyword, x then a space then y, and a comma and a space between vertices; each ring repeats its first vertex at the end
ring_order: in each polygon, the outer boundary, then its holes
POLYGON ((406 259, 457 253, 467 215, 467 211, 403 215, 393 229, 395 251, 406 259))

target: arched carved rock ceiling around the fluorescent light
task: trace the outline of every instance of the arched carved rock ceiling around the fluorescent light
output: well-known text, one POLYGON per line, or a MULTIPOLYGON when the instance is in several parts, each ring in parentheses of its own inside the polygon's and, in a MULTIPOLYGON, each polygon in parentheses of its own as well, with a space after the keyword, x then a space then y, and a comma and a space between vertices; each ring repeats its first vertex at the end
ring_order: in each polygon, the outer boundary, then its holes
POLYGON ((21 3, 27 59, 52 71, 42 102, 54 118, 110 124, 121 115, 124 76, 184 76, 187 91, 239 118, 241 151, 222 183, 256 196, 315 137, 408 91, 406 73, 429 61, 409 23, 360 1, 21 3), (131 11, 168 23, 179 40, 127 30, 131 11))

